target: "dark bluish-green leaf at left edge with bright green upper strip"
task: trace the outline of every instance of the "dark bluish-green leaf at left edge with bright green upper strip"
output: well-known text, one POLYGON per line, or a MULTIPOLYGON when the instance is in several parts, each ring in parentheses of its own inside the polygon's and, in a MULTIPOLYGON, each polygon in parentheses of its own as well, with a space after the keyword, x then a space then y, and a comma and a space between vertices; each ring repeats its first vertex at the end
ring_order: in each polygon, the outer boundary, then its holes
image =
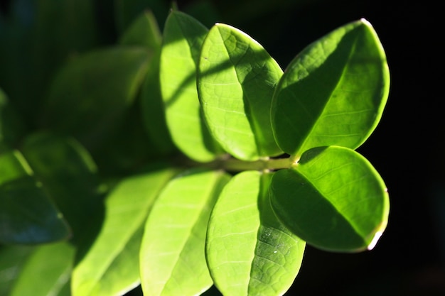
POLYGON ((21 153, 0 154, 0 243, 68 239, 70 229, 21 153))

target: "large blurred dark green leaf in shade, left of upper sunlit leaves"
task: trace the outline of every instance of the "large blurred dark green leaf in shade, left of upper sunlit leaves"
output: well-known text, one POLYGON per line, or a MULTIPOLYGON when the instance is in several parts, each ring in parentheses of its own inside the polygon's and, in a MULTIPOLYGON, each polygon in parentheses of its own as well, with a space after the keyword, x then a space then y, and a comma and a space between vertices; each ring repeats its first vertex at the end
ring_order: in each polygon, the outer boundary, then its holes
POLYGON ((45 122, 87 148, 122 124, 144 80, 151 54, 144 48, 90 51, 65 65, 50 86, 45 122))

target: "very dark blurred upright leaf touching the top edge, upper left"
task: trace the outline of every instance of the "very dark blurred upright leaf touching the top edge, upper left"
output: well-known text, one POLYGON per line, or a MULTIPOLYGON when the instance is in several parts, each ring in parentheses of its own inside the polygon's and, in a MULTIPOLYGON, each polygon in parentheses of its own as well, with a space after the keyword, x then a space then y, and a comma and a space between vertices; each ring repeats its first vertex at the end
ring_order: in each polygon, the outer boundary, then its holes
POLYGON ((41 106, 56 70, 70 56, 84 53, 97 45, 96 23, 95 7, 89 0, 37 2, 32 32, 34 63, 31 68, 31 85, 36 89, 32 99, 27 100, 34 109, 41 106))

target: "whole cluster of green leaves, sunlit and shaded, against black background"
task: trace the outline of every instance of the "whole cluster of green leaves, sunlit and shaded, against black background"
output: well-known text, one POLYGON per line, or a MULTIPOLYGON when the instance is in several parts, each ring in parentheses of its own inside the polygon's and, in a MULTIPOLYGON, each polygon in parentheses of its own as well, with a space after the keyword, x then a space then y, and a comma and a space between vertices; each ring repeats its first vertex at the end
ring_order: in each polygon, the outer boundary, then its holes
POLYGON ((282 70, 237 28, 173 9, 161 31, 124 1, 103 45, 90 2, 62 2, 0 18, 0 292, 283 295, 306 243, 375 246, 389 198, 355 149, 390 75, 368 21, 282 70))

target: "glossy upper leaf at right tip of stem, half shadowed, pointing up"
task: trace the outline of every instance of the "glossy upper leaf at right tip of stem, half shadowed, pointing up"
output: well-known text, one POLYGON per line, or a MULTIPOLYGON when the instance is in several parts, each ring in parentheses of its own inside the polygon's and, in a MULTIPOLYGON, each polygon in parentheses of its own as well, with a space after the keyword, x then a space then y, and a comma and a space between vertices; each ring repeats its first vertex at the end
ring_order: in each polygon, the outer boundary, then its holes
POLYGON ((290 63, 272 102, 277 143, 290 155, 358 148, 382 116, 390 87, 385 52, 364 19, 309 45, 290 63))

